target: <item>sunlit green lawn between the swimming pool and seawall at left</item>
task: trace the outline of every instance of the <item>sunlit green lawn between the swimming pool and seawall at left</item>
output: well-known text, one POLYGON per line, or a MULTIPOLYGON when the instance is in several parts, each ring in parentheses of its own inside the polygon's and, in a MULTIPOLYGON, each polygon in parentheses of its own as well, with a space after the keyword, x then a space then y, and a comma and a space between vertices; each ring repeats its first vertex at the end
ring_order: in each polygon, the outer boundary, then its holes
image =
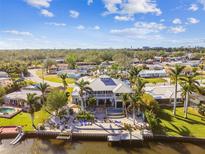
MULTIPOLYGON (((43 109, 35 113, 34 123, 37 126, 48 119, 49 114, 43 109)), ((21 112, 11 119, 0 118, 0 126, 23 126, 24 131, 33 131, 30 114, 21 112)))

